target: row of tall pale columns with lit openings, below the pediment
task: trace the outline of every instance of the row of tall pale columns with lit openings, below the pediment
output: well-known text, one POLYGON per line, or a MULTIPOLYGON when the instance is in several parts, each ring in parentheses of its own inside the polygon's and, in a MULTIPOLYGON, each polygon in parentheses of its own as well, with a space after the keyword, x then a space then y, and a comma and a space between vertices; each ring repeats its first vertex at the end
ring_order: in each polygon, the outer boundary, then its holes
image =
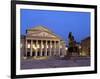
POLYGON ((27 52, 30 52, 30 56, 33 56, 33 55, 34 56, 60 55, 60 41, 26 39, 25 44, 26 44, 26 46, 25 46, 26 56, 27 56, 27 52), (28 41, 30 41, 30 42, 28 42, 28 41), (40 54, 38 54, 38 53, 40 53, 40 54))

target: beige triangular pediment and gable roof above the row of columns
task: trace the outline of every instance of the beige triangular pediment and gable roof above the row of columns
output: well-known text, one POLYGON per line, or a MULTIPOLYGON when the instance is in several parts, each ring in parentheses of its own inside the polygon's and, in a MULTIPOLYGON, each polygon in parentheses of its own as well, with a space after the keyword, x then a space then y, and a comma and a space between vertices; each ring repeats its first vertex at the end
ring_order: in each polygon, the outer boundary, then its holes
POLYGON ((53 38, 59 38, 57 35, 55 35, 52 31, 49 29, 43 27, 43 26, 37 26, 35 28, 31 28, 27 30, 28 36, 38 36, 38 37, 53 37, 53 38))

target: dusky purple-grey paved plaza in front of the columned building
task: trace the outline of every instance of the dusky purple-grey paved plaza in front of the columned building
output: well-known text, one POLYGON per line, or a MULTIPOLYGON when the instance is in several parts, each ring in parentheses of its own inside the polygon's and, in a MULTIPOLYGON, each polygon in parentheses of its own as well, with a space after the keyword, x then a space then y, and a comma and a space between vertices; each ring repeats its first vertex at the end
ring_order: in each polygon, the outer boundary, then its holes
POLYGON ((90 57, 48 58, 42 60, 22 59, 21 69, 90 66, 90 57))

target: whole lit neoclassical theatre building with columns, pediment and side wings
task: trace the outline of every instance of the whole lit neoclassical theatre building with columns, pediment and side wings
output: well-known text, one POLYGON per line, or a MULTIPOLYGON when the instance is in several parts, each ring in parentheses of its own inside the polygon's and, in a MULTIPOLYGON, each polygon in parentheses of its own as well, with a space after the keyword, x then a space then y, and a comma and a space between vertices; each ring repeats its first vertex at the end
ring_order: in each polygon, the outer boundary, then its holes
POLYGON ((37 26, 21 35, 21 57, 62 57, 66 55, 66 43, 49 29, 37 26))

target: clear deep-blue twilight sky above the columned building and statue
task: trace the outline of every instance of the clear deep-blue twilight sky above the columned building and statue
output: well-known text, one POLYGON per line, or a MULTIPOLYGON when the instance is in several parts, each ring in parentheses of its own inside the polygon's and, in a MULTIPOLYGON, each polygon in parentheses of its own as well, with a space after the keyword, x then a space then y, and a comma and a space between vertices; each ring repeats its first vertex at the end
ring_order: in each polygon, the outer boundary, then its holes
POLYGON ((25 35, 26 29, 36 26, 50 29, 65 41, 72 32, 80 42, 90 36, 90 13, 21 9, 21 34, 25 35))

